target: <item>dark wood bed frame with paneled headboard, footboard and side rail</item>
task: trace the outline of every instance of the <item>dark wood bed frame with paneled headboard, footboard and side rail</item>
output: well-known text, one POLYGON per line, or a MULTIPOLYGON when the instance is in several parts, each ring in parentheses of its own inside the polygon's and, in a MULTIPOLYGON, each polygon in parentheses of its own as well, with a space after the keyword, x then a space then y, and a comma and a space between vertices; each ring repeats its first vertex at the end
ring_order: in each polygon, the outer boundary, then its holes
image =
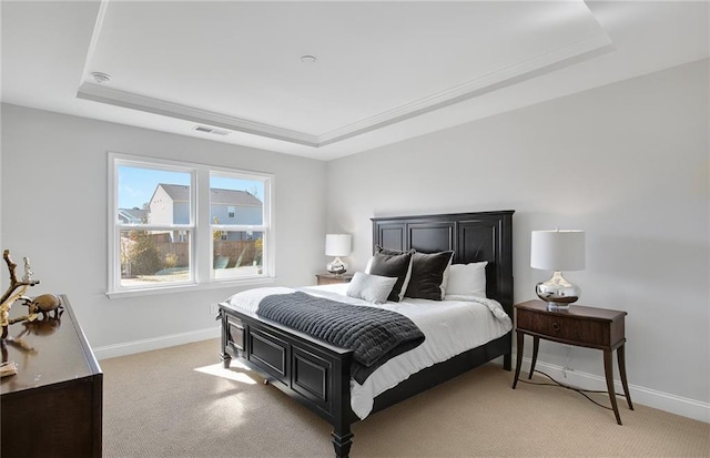
MULTIPOLYGON (((513 318, 514 211, 373 218, 373 246, 423 253, 453 250, 454 263, 488 261, 486 292, 513 318)), ((336 457, 349 454, 352 350, 334 347, 254 314, 220 304, 222 359, 239 358, 333 425, 336 457)), ((414 374, 375 398, 372 414, 503 356, 510 370, 511 333, 414 374)))

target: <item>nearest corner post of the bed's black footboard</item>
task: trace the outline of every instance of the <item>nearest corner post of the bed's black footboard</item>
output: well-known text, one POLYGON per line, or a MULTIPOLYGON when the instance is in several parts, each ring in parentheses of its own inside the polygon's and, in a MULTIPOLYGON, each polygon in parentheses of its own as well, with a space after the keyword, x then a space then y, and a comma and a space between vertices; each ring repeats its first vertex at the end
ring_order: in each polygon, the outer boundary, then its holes
POLYGON ((347 458, 353 445, 351 424, 351 357, 338 359, 333 367, 333 447, 337 458, 347 458))

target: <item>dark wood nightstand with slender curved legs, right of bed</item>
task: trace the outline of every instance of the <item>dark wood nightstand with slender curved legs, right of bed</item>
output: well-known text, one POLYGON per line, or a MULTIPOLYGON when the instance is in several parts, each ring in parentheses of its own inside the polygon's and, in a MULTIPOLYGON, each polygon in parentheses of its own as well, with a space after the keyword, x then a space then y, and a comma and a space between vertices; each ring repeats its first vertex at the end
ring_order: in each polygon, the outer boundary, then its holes
POLYGON ((629 396, 629 385, 626 379, 623 350, 626 343, 626 337, 623 336, 623 317, 626 315, 626 312, 585 307, 581 305, 570 305, 569 311, 550 312, 547 309, 547 304, 542 301, 528 301, 515 305, 515 330, 517 334, 518 348, 513 389, 515 389, 518 384, 518 377, 520 376, 524 337, 526 334, 532 336, 532 363, 530 364, 528 378, 532 377, 532 372, 535 370, 540 338, 560 344, 597 348, 604 352, 604 372, 607 378, 607 390, 609 391, 613 415, 617 417, 617 423, 621 425, 621 417, 619 416, 619 408, 613 389, 612 353, 615 349, 617 350, 623 394, 626 395, 629 409, 633 410, 631 396, 629 396))

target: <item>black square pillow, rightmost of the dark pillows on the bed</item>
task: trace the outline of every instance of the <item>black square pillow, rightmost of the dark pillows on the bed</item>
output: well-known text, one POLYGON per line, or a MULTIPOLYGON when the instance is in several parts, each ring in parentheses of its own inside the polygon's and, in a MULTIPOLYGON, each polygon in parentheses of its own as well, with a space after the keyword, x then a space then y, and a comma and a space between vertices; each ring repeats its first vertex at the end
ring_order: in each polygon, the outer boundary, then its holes
POLYGON ((419 299, 442 301, 444 298, 444 272, 452 263, 454 252, 414 253, 412 256, 412 278, 405 296, 419 299))

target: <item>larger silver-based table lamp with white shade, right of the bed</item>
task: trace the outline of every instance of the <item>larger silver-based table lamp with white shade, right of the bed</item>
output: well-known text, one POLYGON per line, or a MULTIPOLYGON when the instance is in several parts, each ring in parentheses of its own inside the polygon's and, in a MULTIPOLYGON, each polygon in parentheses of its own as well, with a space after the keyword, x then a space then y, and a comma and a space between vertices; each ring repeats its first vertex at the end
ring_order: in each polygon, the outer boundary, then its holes
POLYGON ((548 311, 568 311, 579 298, 581 288, 569 283, 562 271, 585 268, 584 231, 532 231, 530 267, 552 271, 547 282, 535 286, 537 296, 547 303, 548 311))

